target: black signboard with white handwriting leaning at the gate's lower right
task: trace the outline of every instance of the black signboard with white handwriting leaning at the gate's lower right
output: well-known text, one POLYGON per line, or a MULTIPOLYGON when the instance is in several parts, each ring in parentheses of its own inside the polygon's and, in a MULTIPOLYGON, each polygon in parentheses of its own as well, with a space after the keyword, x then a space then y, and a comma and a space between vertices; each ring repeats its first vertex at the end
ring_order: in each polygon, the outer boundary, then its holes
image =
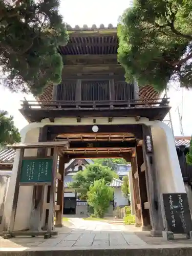
POLYGON ((192 221, 186 193, 163 194, 165 218, 168 231, 188 233, 192 221))

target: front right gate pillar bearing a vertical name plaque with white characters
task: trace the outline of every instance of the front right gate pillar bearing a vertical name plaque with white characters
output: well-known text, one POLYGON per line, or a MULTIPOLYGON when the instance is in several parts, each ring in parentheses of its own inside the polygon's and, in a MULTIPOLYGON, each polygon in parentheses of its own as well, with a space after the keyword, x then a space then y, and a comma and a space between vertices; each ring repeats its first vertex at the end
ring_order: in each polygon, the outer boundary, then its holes
POLYGON ((161 212, 161 198, 158 195, 158 181, 156 178, 154 148, 151 135, 151 127, 143 125, 143 157, 146 177, 147 194, 149 201, 150 219, 152 225, 152 235, 159 236, 163 230, 163 220, 161 212))

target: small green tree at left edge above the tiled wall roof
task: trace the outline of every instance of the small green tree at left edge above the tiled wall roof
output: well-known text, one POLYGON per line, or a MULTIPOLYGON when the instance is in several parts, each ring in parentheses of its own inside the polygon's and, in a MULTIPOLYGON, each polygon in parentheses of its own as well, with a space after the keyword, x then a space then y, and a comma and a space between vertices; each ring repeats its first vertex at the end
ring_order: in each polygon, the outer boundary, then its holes
POLYGON ((13 117, 7 111, 0 110, 0 146, 20 142, 20 134, 15 127, 13 117))

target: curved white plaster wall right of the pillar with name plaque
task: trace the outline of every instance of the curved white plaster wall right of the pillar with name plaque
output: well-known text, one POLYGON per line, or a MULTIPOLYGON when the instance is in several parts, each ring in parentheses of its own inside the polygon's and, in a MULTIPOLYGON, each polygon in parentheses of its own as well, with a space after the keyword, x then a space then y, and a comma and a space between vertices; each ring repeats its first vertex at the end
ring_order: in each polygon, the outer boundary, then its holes
POLYGON ((170 128, 160 121, 152 125, 154 158, 160 193, 185 193, 175 141, 170 128))

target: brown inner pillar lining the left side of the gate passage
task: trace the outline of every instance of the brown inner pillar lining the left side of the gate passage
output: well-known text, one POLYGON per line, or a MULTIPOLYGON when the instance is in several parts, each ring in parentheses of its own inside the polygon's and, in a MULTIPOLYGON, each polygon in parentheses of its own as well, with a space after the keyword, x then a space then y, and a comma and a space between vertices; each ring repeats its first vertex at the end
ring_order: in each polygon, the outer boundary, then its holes
POLYGON ((65 176, 65 158, 59 157, 59 174, 61 179, 57 183, 57 205, 60 206, 55 214, 55 227, 63 227, 62 212, 63 212, 63 197, 64 197, 64 176, 65 176))

